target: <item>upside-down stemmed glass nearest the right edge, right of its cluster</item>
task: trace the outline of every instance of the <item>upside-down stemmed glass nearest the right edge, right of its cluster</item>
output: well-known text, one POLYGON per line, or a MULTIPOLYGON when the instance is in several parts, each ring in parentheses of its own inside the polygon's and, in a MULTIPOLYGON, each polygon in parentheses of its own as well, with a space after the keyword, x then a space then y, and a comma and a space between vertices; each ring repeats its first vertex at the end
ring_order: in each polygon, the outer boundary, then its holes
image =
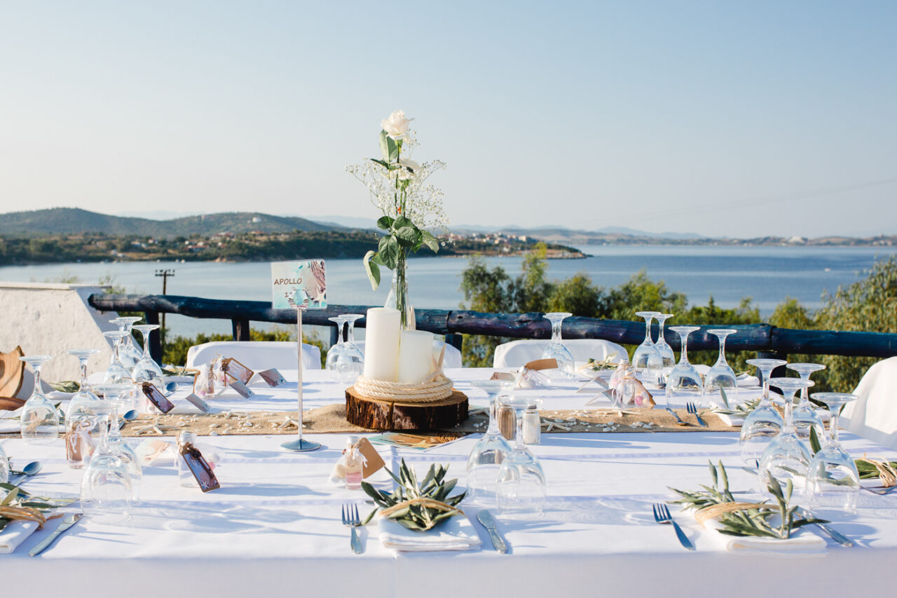
POLYGON ((828 512, 856 513, 859 500, 859 473, 853 458, 841 448, 838 442, 838 417, 840 409, 852 400, 855 394, 846 392, 814 392, 813 398, 822 401, 832 414, 829 420, 829 435, 823 448, 816 453, 806 474, 806 490, 810 495, 810 506, 818 509, 817 514, 828 512))

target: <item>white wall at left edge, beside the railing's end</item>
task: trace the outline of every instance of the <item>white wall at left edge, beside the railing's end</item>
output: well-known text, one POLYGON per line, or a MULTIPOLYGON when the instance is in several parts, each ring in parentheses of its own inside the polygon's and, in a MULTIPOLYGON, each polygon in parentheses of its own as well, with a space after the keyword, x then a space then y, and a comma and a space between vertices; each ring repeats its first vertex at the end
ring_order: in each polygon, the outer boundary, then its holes
MULTIPOLYGON (((94 285, 0 282, 0 351, 21 345, 25 355, 51 355, 43 378, 52 382, 78 380, 78 360, 67 349, 98 348, 100 354, 88 362, 88 374, 105 370, 112 347, 103 336, 118 330, 109 323, 116 312, 100 313, 87 304, 87 297, 106 289, 94 285)), ((26 385, 30 388, 31 384, 26 385)))

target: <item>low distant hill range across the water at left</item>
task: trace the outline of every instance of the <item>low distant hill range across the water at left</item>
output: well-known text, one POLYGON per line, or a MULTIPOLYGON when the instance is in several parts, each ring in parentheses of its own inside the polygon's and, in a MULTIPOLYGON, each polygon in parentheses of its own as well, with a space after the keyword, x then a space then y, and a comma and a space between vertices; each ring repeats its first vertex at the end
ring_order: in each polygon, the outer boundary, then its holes
POLYGON ((109 233, 150 237, 204 236, 215 233, 290 233, 346 230, 339 224, 318 224, 295 216, 259 212, 222 212, 151 220, 89 212, 77 207, 54 207, 0 215, 0 235, 39 237, 51 234, 109 233))

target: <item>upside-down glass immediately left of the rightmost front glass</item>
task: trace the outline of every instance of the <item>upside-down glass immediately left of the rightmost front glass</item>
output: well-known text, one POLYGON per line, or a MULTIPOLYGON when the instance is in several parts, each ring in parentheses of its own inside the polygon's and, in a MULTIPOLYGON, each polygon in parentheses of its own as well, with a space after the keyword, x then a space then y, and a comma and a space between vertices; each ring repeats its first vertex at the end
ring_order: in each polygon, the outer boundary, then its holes
POLYGON ((794 411, 795 393, 813 386, 813 383, 800 378, 773 378, 770 382, 782 391, 782 397, 785 399, 785 418, 779 434, 775 435, 770 444, 763 449, 760 465, 757 467, 760 482, 762 488, 766 488, 770 480, 775 478, 781 487, 785 488, 790 479, 795 490, 799 490, 806 486, 806 472, 810 468, 811 455, 806 444, 797 436, 791 415, 794 411))

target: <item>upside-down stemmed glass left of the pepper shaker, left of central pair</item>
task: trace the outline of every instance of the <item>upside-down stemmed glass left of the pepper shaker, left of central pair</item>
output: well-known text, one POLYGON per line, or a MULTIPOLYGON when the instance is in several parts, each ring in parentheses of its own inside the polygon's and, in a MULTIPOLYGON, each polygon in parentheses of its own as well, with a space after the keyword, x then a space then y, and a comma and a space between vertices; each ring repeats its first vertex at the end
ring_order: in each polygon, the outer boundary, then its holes
POLYGON ((499 470, 511 451, 499 430, 496 398, 514 383, 506 380, 478 380, 472 383, 489 398, 489 427, 467 457, 467 497, 478 505, 494 506, 499 470))

